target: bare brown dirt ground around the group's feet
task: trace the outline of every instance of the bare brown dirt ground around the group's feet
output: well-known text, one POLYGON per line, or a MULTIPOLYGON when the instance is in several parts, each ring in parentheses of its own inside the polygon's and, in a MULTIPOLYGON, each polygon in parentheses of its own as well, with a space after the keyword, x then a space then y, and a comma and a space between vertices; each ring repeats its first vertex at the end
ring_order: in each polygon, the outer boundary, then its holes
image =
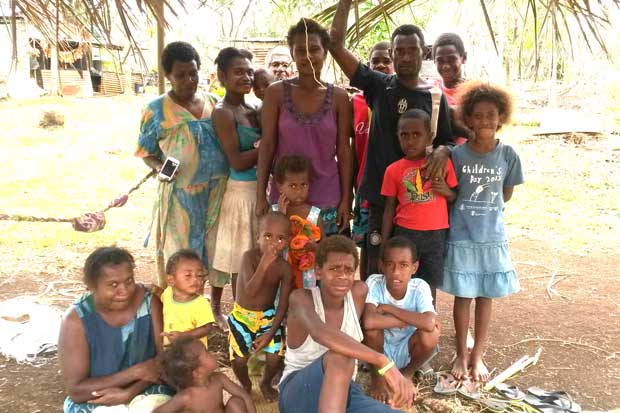
MULTIPOLYGON (((605 253, 588 256, 558 253, 544 242, 522 237, 513 239, 511 247, 522 291, 495 304, 486 356, 489 365, 501 371, 523 355, 533 355, 542 347, 539 364, 517 376, 513 380, 515 384, 522 388, 536 385, 565 390, 588 410, 619 407, 617 257, 605 253), (557 268, 548 267, 551 257, 560 263, 557 268), (556 279, 561 279, 555 287, 562 297, 550 299, 546 285, 554 271, 557 271, 556 279)), ((87 252, 76 255, 85 256, 87 252)), ((48 258, 49 262, 55 261, 53 256, 48 258)), ((45 259, 41 261, 45 262, 45 259)), ((28 270, 14 273, 11 282, 3 283, 0 299, 43 293, 49 281, 56 278, 63 282, 55 284, 46 294, 54 298, 59 308, 64 308, 71 301, 66 291, 76 295, 76 288, 80 288, 74 283, 80 277, 77 265, 66 268, 63 277, 59 278, 49 264, 30 263, 26 266, 26 262, 22 263, 28 270), (43 279, 47 281, 42 282, 43 279)), ((137 254, 140 279, 150 280, 145 269, 152 265, 148 252, 137 254)), ((227 298, 230 300, 230 296, 227 298)), ((444 334, 440 343, 442 352, 434 361, 434 367, 445 369, 454 345, 451 298, 440 293, 438 302, 444 334)), ((214 337, 211 342, 220 348, 220 354, 225 353, 224 337, 214 337)), ((61 411, 64 391, 55 356, 40 359, 37 367, 19 365, 8 359, 0 363, 0 412, 61 411)))

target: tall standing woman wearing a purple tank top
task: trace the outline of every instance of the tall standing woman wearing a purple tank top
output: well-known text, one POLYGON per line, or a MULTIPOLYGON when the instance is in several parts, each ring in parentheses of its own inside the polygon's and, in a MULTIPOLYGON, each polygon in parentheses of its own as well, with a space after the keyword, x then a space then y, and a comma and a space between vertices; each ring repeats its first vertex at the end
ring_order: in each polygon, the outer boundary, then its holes
POLYGON ((275 162, 285 155, 301 155, 313 169, 308 202, 321 208, 325 235, 332 235, 348 228, 351 211, 349 98, 344 89, 320 80, 330 41, 327 30, 302 18, 289 29, 287 41, 299 75, 265 92, 256 213, 260 216, 270 203, 278 202, 276 185, 270 185, 267 198, 275 162))

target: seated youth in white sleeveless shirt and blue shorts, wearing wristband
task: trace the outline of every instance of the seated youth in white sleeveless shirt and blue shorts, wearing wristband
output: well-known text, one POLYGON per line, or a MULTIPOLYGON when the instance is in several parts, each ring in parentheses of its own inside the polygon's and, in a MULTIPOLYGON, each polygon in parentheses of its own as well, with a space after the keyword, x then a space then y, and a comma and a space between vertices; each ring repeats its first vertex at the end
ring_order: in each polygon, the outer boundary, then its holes
POLYGON ((316 253, 320 285, 291 293, 280 381, 281 413, 394 413, 411 406, 415 396, 411 380, 385 355, 361 343, 360 317, 368 287, 355 281, 358 264, 351 239, 327 238, 316 253), (353 382, 356 360, 375 366, 385 377, 392 407, 365 395, 353 382))

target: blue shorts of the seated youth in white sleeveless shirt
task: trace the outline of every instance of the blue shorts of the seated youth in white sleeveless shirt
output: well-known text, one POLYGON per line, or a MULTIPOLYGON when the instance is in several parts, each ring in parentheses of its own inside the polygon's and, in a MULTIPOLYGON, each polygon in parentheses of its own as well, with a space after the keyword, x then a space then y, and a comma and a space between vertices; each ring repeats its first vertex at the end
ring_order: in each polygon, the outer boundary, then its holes
MULTIPOLYGON (((291 373, 280 383, 280 413, 316 413, 323 385, 323 357, 301 370, 291 373)), ((403 413, 367 396, 359 384, 351 381, 347 397, 347 413, 403 413)))

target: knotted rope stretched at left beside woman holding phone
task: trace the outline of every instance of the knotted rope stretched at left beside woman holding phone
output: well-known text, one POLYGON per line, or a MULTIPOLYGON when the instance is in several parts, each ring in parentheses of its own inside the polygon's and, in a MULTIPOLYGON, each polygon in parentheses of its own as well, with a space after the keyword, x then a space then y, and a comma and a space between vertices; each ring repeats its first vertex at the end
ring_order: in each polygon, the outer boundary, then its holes
POLYGON ((58 218, 58 217, 38 217, 31 215, 9 215, 0 214, 0 221, 16 221, 16 222, 70 222, 73 229, 80 232, 94 232, 103 229, 105 226, 104 213, 112 208, 120 208, 127 203, 129 195, 140 188, 149 178, 154 176, 156 171, 150 171, 136 185, 131 187, 126 194, 114 199, 104 209, 97 212, 87 212, 86 214, 74 218, 58 218))

